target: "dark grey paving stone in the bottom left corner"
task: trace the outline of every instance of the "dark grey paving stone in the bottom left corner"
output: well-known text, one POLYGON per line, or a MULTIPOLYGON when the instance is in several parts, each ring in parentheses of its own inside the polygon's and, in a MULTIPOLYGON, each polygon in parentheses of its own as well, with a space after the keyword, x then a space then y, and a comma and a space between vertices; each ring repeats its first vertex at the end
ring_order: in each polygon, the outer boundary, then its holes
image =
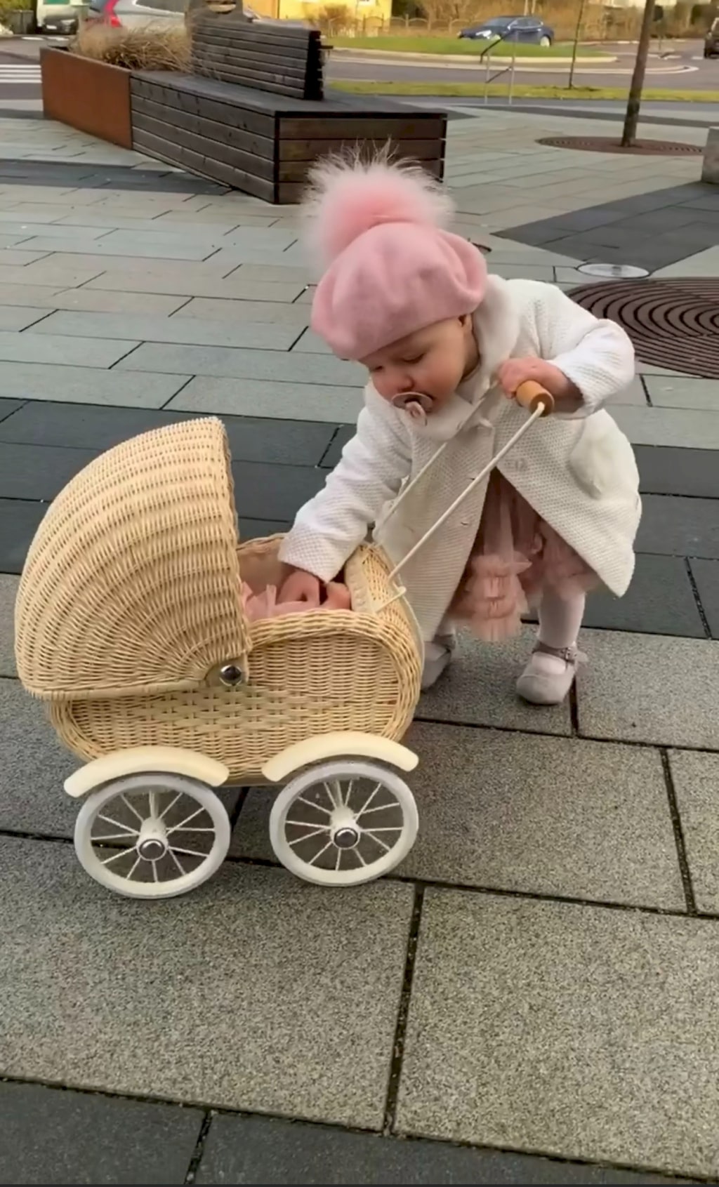
POLYGON ((183 1183, 197 1109, 0 1084, 1 1183, 183 1183))

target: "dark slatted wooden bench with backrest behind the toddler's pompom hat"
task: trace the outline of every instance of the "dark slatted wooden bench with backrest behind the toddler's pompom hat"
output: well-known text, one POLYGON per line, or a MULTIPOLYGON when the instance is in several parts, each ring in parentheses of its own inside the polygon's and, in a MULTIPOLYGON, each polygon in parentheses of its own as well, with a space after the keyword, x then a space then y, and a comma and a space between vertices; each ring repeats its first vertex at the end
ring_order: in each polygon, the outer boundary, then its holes
POLYGON ((325 93, 316 30, 193 14, 192 74, 133 74, 133 145, 266 202, 300 201, 329 152, 390 144, 444 172, 446 113, 374 95, 325 93))

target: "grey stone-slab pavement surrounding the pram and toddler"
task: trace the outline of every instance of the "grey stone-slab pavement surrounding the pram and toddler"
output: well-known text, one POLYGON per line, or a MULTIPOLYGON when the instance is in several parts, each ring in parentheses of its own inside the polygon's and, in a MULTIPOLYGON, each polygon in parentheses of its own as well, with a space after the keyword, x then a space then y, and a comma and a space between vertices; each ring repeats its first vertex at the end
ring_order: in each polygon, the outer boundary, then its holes
MULTIPOLYGON (((695 158, 551 150, 596 125, 464 114, 447 184, 502 275, 572 291, 606 208, 712 210, 695 158), (539 222, 554 237, 513 230, 539 222)), ((113 896, 75 857, 77 762, 17 680, 32 535, 100 452, 208 412, 242 537, 281 531, 362 377, 307 329, 294 209, 58 125, 0 128, 0 1182, 718 1181, 719 381, 640 362, 613 407, 645 502, 631 590, 590 598, 559 709, 515 698, 529 626, 462 640, 412 726, 420 833, 389 877, 293 880, 273 793, 228 789, 214 880, 113 896)), ((695 236, 655 266, 719 277, 695 236)))

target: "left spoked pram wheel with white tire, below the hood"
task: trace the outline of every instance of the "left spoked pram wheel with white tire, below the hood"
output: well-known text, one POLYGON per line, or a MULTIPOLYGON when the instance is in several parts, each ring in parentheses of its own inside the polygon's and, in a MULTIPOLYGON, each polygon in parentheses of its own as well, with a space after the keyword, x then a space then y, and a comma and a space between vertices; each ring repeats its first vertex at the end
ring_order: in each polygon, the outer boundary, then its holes
POLYGON ((219 868, 229 844, 230 823, 217 795, 170 772, 106 783, 87 798, 75 824, 83 869, 132 899, 193 890, 219 868))

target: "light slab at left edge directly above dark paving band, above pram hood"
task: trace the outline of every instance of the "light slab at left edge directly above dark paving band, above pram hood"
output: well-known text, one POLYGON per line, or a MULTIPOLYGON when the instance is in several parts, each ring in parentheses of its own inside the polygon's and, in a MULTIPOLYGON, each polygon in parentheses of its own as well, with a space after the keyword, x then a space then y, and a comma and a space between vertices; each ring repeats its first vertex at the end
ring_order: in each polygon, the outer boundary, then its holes
POLYGON ((128 408, 161 408, 189 379, 189 375, 160 375, 157 372, 140 374, 98 367, 55 367, 50 363, 2 366, 2 391, 7 396, 69 404, 109 404, 128 408))

